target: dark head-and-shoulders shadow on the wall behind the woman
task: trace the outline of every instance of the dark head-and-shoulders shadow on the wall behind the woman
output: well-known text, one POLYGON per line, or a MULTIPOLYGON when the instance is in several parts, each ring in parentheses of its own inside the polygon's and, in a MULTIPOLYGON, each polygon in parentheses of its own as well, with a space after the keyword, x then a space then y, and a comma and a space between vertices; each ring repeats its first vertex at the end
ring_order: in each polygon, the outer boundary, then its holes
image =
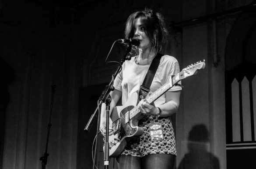
POLYGON ((209 132, 203 124, 194 125, 189 132, 188 149, 178 169, 220 169, 219 160, 207 151, 209 132))

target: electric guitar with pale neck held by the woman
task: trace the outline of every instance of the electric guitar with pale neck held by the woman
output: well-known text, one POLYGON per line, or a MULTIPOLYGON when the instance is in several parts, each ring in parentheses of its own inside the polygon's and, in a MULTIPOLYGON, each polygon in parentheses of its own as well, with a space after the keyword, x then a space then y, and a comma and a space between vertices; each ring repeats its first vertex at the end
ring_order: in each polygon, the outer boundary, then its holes
MULTIPOLYGON (((163 95, 170 88, 175 86, 179 81, 189 76, 193 76, 198 70, 205 67, 205 60, 196 62, 182 69, 177 75, 170 78, 170 80, 162 85, 158 90, 154 91, 146 100, 152 104, 161 95, 163 95)), ((110 118, 109 124, 112 125, 114 134, 109 135, 109 156, 117 157, 125 148, 127 142, 133 137, 138 137, 143 134, 143 128, 138 126, 138 122, 144 117, 137 107, 138 94, 133 93, 126 104, 116 106, 113 108, 113 113, 118 115, 117 119, 110 118)), ((103 146, 104 149, 104 146, 103 146)), ((104 149, 105 150, 105 149, 104 149)))

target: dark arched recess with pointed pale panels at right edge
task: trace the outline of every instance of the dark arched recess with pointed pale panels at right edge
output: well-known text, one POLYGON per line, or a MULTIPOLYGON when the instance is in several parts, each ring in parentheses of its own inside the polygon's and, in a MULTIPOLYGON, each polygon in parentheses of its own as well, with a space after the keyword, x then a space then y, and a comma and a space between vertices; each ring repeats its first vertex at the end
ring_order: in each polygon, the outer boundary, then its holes
POLYGON ((256 10, 238 15, 225 51, 227 169, 256 162, 256 10))

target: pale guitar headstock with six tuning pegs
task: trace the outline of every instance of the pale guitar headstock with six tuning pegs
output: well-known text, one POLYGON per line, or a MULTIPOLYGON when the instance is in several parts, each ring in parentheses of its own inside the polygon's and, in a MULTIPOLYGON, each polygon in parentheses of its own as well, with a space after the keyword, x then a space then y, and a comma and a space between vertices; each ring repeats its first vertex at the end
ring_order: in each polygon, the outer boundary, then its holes
POLYGON ((182 71, 180 71, 178 73, 179 80, 182 80, 182 79, 187 78, 189 76, 193 76, 197 73, 198 70, 204 69, 204 67, 205 67, 204 62, 205 62, 205 60, 198 61, 195 64, 190 64, 186 68, 182 69, 182 71))

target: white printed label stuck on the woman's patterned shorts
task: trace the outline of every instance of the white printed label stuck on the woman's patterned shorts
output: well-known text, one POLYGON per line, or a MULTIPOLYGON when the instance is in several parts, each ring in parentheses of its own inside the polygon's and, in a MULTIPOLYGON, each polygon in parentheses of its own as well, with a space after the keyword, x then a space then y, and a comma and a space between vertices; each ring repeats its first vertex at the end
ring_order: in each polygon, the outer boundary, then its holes
POLYGON ((152 123, 149 125, 149 132, 151 136, 151 141, 163 140, 163 128, 159 123, 152 123))

